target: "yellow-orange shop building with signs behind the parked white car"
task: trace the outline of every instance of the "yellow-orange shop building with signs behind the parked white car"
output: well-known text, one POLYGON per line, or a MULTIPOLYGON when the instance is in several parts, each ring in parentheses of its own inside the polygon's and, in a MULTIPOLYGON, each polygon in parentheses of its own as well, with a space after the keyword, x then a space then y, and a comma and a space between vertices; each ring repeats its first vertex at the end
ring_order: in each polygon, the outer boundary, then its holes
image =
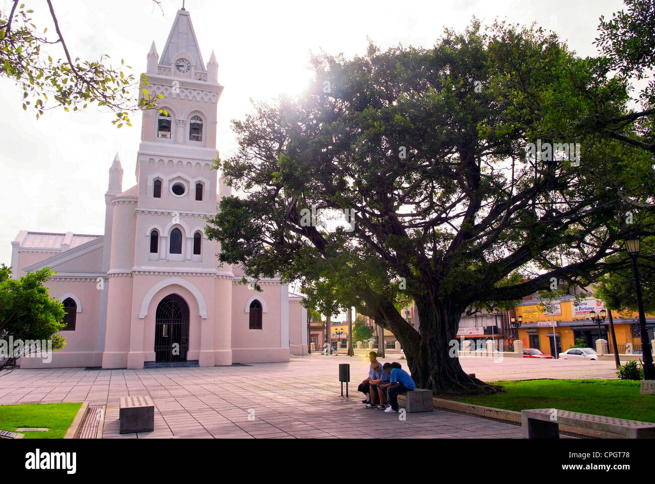
MULTIPOLYGON (((573 297, 566 297, 553 301, 550 308, 540 307, 538 300, 523 301, 521 306, 515 308, 516 316, 523 317, 523 323, 518 331, 519 340, 523 341, 523 348, 536 348, 550 355, 568 350, 578 338, 584 339, 588 348, 595 350, 599 327, 597 323, 591 321, 590 313, 594 310, 599 314, 603 309, 605 309, 603 302, 595 298, 586 298, 576 304, 573 297)), ((619 353, 641 350, 637 313, 614 311, 612 316, 619 353)), ((607 315, 600 326, 600 337, 607 340, 608 349, 612 352, 608 319, 607 315)), ((646 316, 648 340, 653 338, 654 323, 655 317, 646 316)))

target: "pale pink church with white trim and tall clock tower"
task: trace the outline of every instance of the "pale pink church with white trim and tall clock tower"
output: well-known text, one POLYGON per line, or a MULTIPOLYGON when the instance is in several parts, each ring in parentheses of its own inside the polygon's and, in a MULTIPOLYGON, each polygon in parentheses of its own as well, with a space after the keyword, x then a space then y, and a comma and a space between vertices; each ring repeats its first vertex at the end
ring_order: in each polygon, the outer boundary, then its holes
POLYGON ((263 292, 240 284, 240 268, 221 266, 204 234, 231 189, 212 170, 218 64, 214 52, 204 64, 187 10, 161 56, 153 42, 146 75, 164 112, 143 113, 136 185, 123 190, 118 155, 111 164, 103 235, 21 231, 12 242, 13 277, 50 268, 50 295, 66 310, 65 348, 21 367, 204 367, 307 353, 301 297, 277 278, 259 281, 263 292))

